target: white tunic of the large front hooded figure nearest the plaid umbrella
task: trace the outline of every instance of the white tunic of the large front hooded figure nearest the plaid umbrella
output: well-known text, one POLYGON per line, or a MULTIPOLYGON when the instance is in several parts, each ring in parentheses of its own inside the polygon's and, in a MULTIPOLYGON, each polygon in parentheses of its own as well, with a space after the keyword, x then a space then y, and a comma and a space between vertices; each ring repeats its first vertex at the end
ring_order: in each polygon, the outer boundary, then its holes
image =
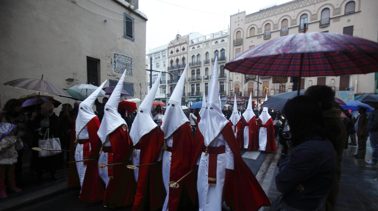
POLYGON ((234 169, 234 154, 228 146, 226 140, 219 134, 209 146, 224 146, 226 145, 226 153, 218 154, 217 156, 217 184, 216 186, 208 185, 208 171, 209 171, 209 155, 198 159, 198 205, 200 211, 208 210, 222 210, 222 193, 225 185, 226 169, 234 169))

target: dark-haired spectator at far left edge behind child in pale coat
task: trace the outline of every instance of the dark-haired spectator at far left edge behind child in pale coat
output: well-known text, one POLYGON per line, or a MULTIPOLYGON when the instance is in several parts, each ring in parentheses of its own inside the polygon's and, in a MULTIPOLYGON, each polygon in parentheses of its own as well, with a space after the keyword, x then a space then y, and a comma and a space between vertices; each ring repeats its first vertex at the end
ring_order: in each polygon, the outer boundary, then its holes
MULTIPOLYGON (((11 123, 13 125, 19 126, 19 132, 17 134, 18 137, 23 142, 23 145, 27 143, 26 134, 28 133, 27 123, 29 118, 22 112, 21 108, 22 103, 17 99, 10 99, 8 100, 5 105, 4 109, 0 109, 0 122, 4 123, 11 123)), ((23 148, 17 148, 17 162, 15 162, 14 166, 14 175, 16 186, 22 187, 22 156, 23 156, 23 148)))

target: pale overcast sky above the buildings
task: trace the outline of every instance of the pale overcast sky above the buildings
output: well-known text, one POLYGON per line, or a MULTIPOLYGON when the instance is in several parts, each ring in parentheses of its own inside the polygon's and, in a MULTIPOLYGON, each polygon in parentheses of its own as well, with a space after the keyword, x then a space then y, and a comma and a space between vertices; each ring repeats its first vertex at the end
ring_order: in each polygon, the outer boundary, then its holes
POLYGON ((198 31, 203 35, 227 29, 230 15, 289 2, 289 0, 139 0, 147 15, 146 51, 166 45, 181 35, 198 31))

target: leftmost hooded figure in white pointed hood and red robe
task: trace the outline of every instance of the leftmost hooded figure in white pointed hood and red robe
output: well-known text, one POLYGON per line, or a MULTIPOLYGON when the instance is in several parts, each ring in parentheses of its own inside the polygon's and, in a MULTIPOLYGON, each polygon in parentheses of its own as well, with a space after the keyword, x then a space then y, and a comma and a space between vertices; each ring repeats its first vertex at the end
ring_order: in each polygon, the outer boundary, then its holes
POLYGON ((100 127, 100 120, 93 112, 92 106, 97 99, 106 80, 79 105, 79 112, 76 117, 75 136, 76 150, 74 158, 76 161, 77 174, 81 186, 79 201, 95 202, 104 197, 104 184, 97 170, 101 140, 97 135, 100 127), (92 159, 92 160, 90 160, 92 159))

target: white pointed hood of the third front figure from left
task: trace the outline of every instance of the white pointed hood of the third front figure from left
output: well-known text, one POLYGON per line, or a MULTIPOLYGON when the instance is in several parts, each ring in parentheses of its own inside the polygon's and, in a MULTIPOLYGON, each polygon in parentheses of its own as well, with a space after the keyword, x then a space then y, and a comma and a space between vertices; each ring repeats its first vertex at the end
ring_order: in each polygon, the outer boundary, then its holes
POLYGON ((156 90, 158 90, 160 85, 160 78, 161 73, 159 73, 158 78, 138 108, 138 114, 136 115, 133 126, 130 130, 130 138, 134 145, 136 145, 144 135, 158 126, 152 119, 151 107, 156 90))

